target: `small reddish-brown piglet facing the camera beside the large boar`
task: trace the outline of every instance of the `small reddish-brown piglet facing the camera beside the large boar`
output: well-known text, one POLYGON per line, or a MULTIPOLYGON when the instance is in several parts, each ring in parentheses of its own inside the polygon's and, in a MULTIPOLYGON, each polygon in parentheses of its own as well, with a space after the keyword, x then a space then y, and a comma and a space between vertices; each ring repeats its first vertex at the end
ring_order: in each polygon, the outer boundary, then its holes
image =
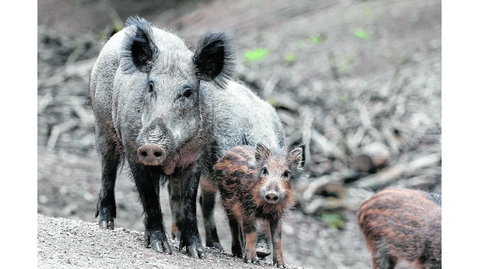
POLYGON ((235 146, 217 161, 216 183, 229 219, 231 248, 239 253, 243 248, 245 262, 258 262, 256 220, 263 219, 270 224, 273 262, 278 268, 286 267, 281 221, 295 204, 290 177, 303 167, 304 145, 291 151, 270 150, 261 142, 256 147, 235 146))

